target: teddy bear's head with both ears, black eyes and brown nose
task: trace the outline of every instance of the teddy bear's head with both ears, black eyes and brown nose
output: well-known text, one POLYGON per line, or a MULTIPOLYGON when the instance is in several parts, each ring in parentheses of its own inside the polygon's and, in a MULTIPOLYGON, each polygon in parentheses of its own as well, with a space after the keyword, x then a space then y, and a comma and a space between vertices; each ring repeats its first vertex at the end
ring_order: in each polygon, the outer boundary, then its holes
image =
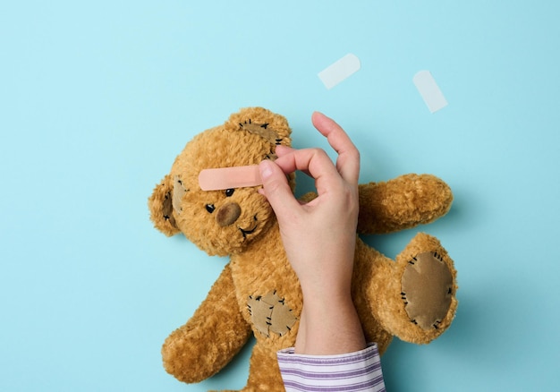
MULTIPOLYGON (((209 255, 245 250, 275 222, 274 211, 258 187, 202 191, 199 173, 275 159, 276 145, 290 146, 290 134, 282 115, 261 107, 242 109, 225 124, 197 134, 148 199, 156 228, 166 235, 182 232, 209 255)), ((294 187, 293 175, 289 180, 294 187)))

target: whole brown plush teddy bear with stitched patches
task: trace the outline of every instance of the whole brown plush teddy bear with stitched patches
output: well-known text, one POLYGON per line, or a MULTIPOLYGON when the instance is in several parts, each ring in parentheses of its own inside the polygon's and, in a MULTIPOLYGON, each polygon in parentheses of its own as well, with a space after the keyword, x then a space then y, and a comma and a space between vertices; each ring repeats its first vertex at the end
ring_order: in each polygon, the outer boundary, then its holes
MULTIPOLYGON (((295 342, 302 296, 276 217, 258 186, 202 191, 199 173, 275 159, 276 145, 289 146, 290 134, 282 115, 242 109, 187 143, 148 200, 158 230, 182 232, 208 255, 230 257, 191 320, 163 345, 165 370, 181 381, 216 374, 254 335, 243 390, 284 390, 276 352, 295 342)), ((360 184, 359 192, 361 234, 426 224, 445 215, 453 200, 449 187, 432 175, 360 184)), ((428 234, 416 234, 395 260, 357 239, 352 296, 368 341, 383 353, 394 336, 426 344, 441 335, 454 319, 455 278, 453 260, 428 234)))

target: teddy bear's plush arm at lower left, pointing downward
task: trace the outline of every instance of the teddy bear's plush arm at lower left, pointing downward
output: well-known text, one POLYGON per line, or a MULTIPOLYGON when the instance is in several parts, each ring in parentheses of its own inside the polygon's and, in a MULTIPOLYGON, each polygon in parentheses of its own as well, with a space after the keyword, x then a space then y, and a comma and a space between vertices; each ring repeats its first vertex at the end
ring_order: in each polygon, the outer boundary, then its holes
POLYGON ((183 382, 208 379, 232 360, 250 333, 237 305, 228 265, 191 319, 165 339, 165 370, 183 382))

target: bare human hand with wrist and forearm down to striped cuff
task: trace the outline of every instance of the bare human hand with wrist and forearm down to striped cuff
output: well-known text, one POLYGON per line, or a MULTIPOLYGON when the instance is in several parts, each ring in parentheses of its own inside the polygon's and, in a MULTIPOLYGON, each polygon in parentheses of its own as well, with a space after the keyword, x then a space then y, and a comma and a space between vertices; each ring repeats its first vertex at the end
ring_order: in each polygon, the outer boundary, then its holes
POLYGON ((276 161, 260 163, 260 192, 275 210, 284 250, 300 279, 304 311, 296 351, 344 353, 365 345, 350 291, 360 153, 326 115, 314 113, 312 122, 338 153, 336 164, 322 149, 277 146, 276 161), (293 197, 285 175, 295 170, 315 179, 316 199, 300 203, 293 197))

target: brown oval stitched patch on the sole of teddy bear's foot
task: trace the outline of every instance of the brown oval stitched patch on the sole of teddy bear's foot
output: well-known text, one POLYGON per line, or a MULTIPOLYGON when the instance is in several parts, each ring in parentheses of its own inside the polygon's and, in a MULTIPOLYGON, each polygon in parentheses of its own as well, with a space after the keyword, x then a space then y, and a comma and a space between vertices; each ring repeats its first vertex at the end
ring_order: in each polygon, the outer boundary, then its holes
POLYGON ((438 328, 453 296, 453 276, 437 252, 420 253, 409 261, 401 282, 404 309, 424 330, 438 328))

